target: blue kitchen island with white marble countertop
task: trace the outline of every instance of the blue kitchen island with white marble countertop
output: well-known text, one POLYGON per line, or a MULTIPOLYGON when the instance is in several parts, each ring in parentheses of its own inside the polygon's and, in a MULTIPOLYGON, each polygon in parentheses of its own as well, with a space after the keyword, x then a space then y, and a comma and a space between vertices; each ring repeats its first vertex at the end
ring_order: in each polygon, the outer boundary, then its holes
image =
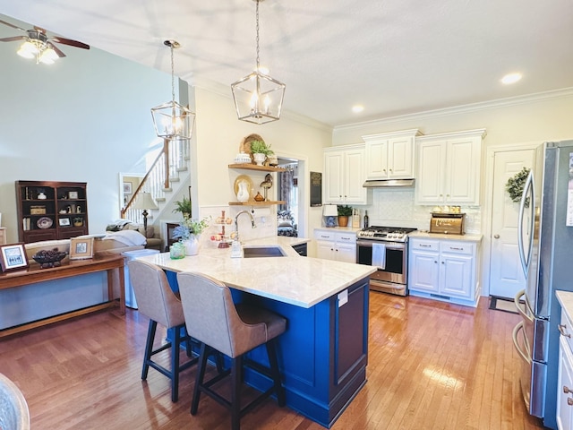
MULTIPOLYGON (((174 289, 176 272, 200 272, 232 288, 235 302, 284 315, 288 325, 278 338, 278 360, 286 406, 329 427, 366 383, 368 281, 375 268, 302 257, 291 245, 306 241, 271 237, 252 243, 279 246, 283 257, 230 258, 228 248, 208 248, 181 260, 168 253, 140 260, 166 270, 174 289)), ((264 348, 251 358, 267 364, 264 348)), ((270 384, 255 374, 245 380, 261 390, 270 384)))

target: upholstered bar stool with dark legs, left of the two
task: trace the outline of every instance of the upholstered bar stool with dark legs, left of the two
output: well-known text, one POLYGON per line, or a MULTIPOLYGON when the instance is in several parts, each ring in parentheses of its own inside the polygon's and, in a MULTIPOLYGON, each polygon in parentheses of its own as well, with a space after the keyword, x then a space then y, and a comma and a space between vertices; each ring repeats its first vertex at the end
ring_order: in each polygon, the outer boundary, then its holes
POLYGON ((181 301, 169 287, 165 272, 158 266, 137 260, 132 260, 127 265, 129 266, 129 277, 132 281, 138 310, 150 319, 141 380, 145 381, 147 379, 150 367, 153 367, 161 374, 165 374, 171 380, 171 400, 175 402, 179 397, 179 373, 198 361, 197 358, 194 358, 181 366, 179 365, 182 342, 186 344, 187 356, 191 357, 191 342, 185 329, 181 301), (167 330, 174 329, 172 330, 174 334, 173 340, 154 350, 153 340, 155 340, 158 323, 167 327, 167 330), (171 369, 167 369, 152 360, 155 354, 167 348, 171 348, 171 369))

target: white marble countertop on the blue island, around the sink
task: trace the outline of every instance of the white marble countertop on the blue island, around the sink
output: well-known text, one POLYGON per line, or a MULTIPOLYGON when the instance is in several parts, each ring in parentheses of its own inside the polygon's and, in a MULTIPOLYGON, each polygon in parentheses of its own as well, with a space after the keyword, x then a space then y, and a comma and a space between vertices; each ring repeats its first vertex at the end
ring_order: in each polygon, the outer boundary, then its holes
POLYGON ((306 308, 376 271, 363 264, 302 257, 291 248, 309 240, 273 236, 244 243, 245 246, 278 245, 286 257, 231 258, 231 248, 203 246, 199 254, 180 260, 171 260, 169 253, 143 256, 138 260, 157 264, 167 271, 202 273, 229 287, 306 308))

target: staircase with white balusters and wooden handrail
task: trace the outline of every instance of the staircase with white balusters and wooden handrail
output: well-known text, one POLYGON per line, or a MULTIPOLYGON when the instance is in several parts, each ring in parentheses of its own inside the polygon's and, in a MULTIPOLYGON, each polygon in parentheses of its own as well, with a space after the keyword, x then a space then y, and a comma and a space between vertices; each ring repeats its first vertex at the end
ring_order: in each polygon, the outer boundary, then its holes
POLYGON ((143 176, 141 184, 137 187, 133 196, 125 207, 121 210, 120 218, 130 219, 138 224, 143 224, 143 215, 141 209, 133 209, 133 205, 141 196, 141 193, 150 193, 155 202, 158 203, 158 209, 148 211, 148 225, 153 224, 153 218, 158 217, 166 210, 168 203, 171 201, 175 191, 178 191, 186 182, 189 176, 189 141, 175 140, 163 141, 163 150, 159 152, 158 157, 153 161, 148 172, 143 176), (186 175, 185 175, 186 174, 186 175), (185 179, 182 182, 183 179, 185 179), (180 184, 174 190, 175 184, 180 184))

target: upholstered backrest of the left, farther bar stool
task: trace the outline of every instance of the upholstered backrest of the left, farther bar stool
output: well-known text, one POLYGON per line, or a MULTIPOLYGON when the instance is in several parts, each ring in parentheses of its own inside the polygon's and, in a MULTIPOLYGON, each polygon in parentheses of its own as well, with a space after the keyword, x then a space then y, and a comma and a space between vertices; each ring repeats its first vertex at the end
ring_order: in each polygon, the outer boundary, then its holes
POLYGON ((169 286, 165 271, 149 262, 127 263, 138 311, 165 327, 184 323, 181 301, 169 286))

